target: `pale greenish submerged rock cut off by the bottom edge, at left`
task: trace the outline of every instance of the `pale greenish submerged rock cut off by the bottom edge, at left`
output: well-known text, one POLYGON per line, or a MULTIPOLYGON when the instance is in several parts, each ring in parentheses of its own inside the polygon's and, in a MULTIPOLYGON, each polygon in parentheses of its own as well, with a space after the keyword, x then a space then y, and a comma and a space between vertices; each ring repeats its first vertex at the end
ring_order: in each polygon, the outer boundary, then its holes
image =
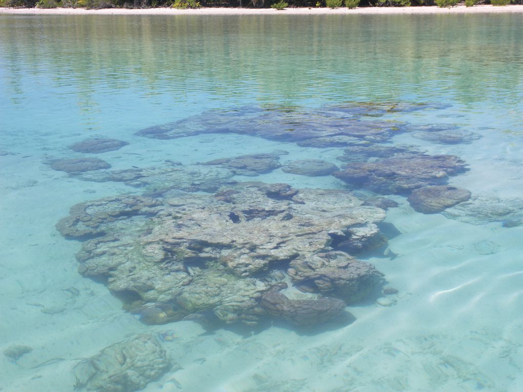
POLYGON ((172 365, 152 335, 108 346, 74 368, 74 389, 97 392, 132 392, 160 378, 172 365))

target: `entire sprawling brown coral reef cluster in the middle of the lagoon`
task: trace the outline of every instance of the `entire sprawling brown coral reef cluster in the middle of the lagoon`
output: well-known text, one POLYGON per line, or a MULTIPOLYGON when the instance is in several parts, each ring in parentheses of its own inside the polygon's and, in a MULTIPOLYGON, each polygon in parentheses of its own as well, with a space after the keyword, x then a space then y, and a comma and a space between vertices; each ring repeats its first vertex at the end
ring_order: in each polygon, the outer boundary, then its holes
MULTIPOLYGON (((379 293, 383 274, 355 258, 386 247, 379 223, 397 203, 377 194, 410 195, 411 205, 426 214, 470 198, 466 189, 447 185, 449 176, 467 170, 458 156, 428 155, 391 141, 399 132, 438 143, 470 142, 474 134, 377 119, 424 107, 241 107, 150 127, 138 135, 237 133, 301 147, 342 147, 338 159, 345 165, 298 159, 282 166, 282 150, 124 170, 108 170, 93 158, 57 160, 55 170, 84 181, 122 182, 142 195, 80 203, 56 227, 64 237, 84 241, 78 271, 105 282, 145 323, 197 320, 219 328, 283 320, 310 327, 379 293), (355 192, 235 180, 274 170, 333 175, 355 192)), ((116 142, 84 141, 76 150, 100 152, 116 142)))

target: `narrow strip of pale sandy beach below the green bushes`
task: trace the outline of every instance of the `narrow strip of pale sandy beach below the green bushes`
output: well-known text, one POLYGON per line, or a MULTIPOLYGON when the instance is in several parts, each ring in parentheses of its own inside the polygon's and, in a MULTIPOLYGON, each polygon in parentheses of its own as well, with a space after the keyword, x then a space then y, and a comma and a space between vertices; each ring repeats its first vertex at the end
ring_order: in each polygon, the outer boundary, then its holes
POLYGON ((451 8, 430 7, 364 7, 348 9, 341 8, 286 8, 278 11, 272 8, 219 8, 202 7, 197 9, 175 8, 2 8, 0 14, 19 15, 417 15, 417 14, 499 14, 523 13, 523 5, 507 5, 495 7, 492 5, 475 5, 473 7, 456 6, 451 8))

